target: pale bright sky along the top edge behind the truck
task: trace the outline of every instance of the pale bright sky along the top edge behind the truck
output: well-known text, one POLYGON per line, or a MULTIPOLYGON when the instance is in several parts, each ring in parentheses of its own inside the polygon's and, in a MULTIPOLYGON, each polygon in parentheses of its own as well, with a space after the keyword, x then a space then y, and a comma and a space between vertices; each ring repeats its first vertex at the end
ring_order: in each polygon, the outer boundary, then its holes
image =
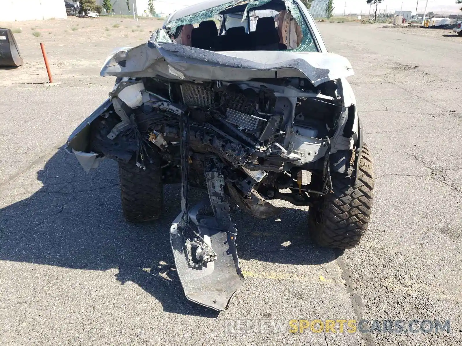
MULTIPOLYGON (((156 6, 156 12, 167 15, 171 12, 176 11, 182 7, 193 5, 203 0, 159 0, 154 1, 156 6)), ((346 13, 369 13, 369 5, 366 3, 366 0, 334 0, 334 13, 343 14, 343 10, 346 3, 346 13)), ((417 0, 383 0, 382 3, 378 6, 378 9, 381 11, 387 9, 387 12, 399 11, 412 11, 415 12, 415 6, 417 0)), ((460 8, 462 4, 456 4, 456 0, 430 0, 428 1, 427 12, 433 11, 435 13, 444 12, 444 14, 449 13, 461 13, 460 8)), ((419 0, 419 6, 417 12, 423 12, 425 8, 425 0, 419 0)))

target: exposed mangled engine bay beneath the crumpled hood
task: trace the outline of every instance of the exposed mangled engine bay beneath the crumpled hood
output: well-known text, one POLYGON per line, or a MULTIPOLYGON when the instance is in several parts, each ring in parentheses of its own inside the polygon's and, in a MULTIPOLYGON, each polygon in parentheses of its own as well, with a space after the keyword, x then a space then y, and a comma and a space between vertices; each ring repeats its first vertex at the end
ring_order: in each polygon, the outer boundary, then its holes
POLYGON ((229 194, 250 214, 268 217, 269 203, 259 210, 255 205, 272 198, 309 205, 311 195, 329 190, 326 166, 335 151, 329 138, 345 127, 348 108, 337 81, 325 84, 314 88, 302 78, 236 83, 120 78, 108 109, 91 123, 87 150, 134 160, 140 169, 158 153, 164 183, 179 183, 180 119, 187 116, 190 184, 206 187, 204 162, 218 155, 229 194), (303 170, 320 175, 323 184, 303 184, 303 170))

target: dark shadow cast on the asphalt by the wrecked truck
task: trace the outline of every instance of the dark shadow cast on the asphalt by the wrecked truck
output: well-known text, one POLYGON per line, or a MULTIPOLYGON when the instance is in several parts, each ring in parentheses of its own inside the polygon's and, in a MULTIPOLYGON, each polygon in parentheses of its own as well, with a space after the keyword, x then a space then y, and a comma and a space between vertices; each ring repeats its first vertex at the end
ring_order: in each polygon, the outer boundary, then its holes
MULTIPOLYGON (((27 189, 34 181, 13 181, 27 189)), ((60 149, 37 172, 43 186, 30 197, 0 209, 0 260, 64 268, 108 270, 150 293, 164 311, 217 317, 218 312, 189 302, 176 275, 170 249, 171 221, 180 211, 180 188, 164 188, 164 214, 150 224, 125 221, 116 164, 103 161, 87 174, 60 149)), ((192 191, 192 199, 205 191, 192 191)), ((334 251, 316 248, 307 231, 307 211, 283 208, 279 218, 256 220, 238 210, 238 254, 244 260, 314 265, 335 260, 334 251), (289 245, 289 246, 287 246, 289 245)))

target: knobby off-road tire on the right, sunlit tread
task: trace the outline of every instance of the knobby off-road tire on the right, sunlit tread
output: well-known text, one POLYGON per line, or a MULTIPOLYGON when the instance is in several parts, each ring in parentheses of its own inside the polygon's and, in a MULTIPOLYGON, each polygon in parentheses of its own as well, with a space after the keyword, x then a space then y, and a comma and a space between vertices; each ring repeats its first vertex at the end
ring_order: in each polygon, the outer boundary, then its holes
POLYGON ((355 186, 354 178, 344 173, 331 177, 334 192, 319 197, 310 207, 310 235, 317 245, 351 249, 364 235, 371 216, 374 181, 367 145, 363 144, 355 186))

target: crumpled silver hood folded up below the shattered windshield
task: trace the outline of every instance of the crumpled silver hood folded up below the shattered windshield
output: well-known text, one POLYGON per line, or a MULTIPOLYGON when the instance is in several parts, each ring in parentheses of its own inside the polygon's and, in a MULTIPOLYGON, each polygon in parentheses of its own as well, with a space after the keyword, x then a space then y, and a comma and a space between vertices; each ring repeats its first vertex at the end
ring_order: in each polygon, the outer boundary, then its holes
POLYGON ((290 51, 212 52, 176 43, 148 42, 108 57, 101 76, 164 77, 179 81, 246 81, 254 78, 307 78, 315 86, 353 75, 337 54, 290 51))

